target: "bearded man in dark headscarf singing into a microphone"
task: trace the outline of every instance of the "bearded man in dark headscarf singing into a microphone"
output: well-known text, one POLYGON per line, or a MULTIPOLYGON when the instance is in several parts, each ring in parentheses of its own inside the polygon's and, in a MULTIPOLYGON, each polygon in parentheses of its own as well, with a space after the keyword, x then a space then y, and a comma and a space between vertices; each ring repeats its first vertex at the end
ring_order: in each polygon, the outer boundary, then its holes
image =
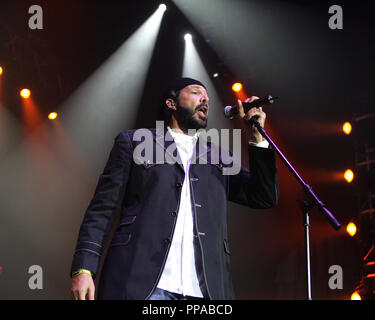
POLYGON ((142 142, 135 139, 136 130, 115 139, 78 235, 71 268, 73 299, 94 299, 93 279, 118 212, 98 299, 234 299, 227 201, 265 209, 278 199, 274 152, 247 121, 257 116, 263 127, 266 115, 262 108, 245 114, 238 101, 248 130, 250 165, 249 170, 224 174, 228 164, 216 157, 220 147, 205 141, 201 148, 203 136, 191 130, 207 126, 206 87, 179 78, 163 101, 166 128, 161 135, 151 130, 150 159, 137 160, 135 150, 142 142), (160 161, 155 150, 176 161, 160 161), (197 161, 202 153, 205 163, 197 161), (218 161, 210 161, 214 158, 218 161))

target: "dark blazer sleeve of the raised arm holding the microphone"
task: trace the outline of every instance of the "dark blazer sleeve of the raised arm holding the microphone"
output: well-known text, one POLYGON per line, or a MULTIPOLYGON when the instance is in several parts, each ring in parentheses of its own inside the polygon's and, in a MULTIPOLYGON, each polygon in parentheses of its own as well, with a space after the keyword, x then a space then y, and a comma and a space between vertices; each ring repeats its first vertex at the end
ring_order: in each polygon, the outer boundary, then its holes
POLYGON ((279 186, 274 151, 249 145, 249 162, 250 170, 242 167, 229 176, 228 199, 255 209, 275 207, 279 186))

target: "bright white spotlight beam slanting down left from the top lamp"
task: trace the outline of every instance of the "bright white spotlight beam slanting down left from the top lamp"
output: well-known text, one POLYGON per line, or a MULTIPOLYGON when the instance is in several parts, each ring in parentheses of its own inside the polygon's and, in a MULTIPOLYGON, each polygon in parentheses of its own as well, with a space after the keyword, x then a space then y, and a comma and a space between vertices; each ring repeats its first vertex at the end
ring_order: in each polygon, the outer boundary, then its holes
MULTIPOLYGON (((134 127, 165 8, 160 6, 60 108, 63 127, 91 159, 98 146, 134 127)), ((94 157, 98 166, 102 157, 94 157)))

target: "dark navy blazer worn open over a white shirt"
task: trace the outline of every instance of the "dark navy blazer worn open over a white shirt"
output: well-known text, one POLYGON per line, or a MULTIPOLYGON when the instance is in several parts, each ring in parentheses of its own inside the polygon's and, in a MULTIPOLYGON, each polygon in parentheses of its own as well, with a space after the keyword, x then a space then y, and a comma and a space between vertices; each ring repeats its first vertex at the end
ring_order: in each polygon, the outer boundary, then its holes
MULTIPOLYGON (((177 152, 168 154, 169 150, 177 151, 173 139, 160 142, 155 132, 153 129, 154 150, 159 148, 159 155, 178 159, 177 152)), ((71 267, 71 271, 84 268, 98 273, 100 257, 120 213, 100 276, 99 299, 147 299, 161 276, 176 224, 185 177, 183 166, 157 161, 156 152, 140 163, 133 156, 141 143, 133 139, 134 134, 125 131, 115 139, 84 215, 71 267)), ((274 151, 249 146, 250 170, 241 167, 236 175, 224 175, 228 164, 221 157, 214 163, 210 161, 214 152, 220 153, 218 146, 207 143, 204 149, 197 143, 196 148, 197 159, 202 155, 207 159, 207 163, 191 164, 189 172, 200 285, 209 299, 234 299, 227 201, 258 209, 276 205, 274 151)))

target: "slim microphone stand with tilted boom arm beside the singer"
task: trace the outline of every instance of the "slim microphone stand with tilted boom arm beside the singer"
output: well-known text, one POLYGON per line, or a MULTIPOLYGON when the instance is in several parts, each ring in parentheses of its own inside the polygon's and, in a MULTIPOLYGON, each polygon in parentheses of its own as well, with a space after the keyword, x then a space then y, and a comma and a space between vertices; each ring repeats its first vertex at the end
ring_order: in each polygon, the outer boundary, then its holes
POLYGON ((333 216, 333 214, 325 207, 325 204, 320 201, 320 199, 316 196, 312 188, 303 181, 301 176, 297 173, 297 171, 293 168, 290 164, 288 159, 283 155, 280 149, 276 146, 276 144, 272 141, 272 139, 268 136, 264 128, 260 125, 260 123, 253 118, 250 119, 250 123, 254 124, 255 127, 258 129, 259 133, 269 142, 272 148, 276 151, 276 153, 280 156, 281 160, 287 166, 287 168, 292 172, 293 176, 297 179, 299 184, 302 186, 303 191, 305 192, 306 198, 304 200, 297 200, 300 205, 300 209, 303 215, 303 226, 305 231, 305 254, 306 254, 306 294, 307 300, 311 300, 311 267, 310 267, 310 236, 309 236, 309 227, 310 227, 310 211, 312 208, 317 207, 318 210, 328 219, 328 222, 335 230, 339 230, 341 225, 333 216))

